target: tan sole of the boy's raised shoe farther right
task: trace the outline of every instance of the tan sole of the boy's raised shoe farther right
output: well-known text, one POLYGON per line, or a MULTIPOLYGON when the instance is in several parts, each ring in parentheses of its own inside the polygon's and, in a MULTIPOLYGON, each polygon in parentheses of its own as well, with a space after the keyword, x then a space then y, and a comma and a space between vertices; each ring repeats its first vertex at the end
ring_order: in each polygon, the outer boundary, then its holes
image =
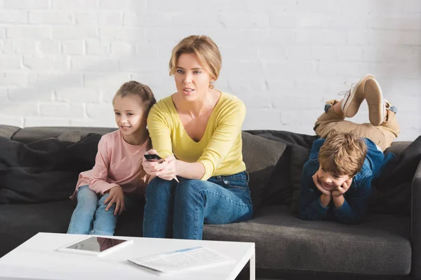
POLYGON ((366 101, 368 104, 368 118, 370 123, 374 126, 379 126, 385 119, 383 108, 383 93, 382 88, 375 79, 366 80, 364 85, 364 92, 366 92, 366 101))

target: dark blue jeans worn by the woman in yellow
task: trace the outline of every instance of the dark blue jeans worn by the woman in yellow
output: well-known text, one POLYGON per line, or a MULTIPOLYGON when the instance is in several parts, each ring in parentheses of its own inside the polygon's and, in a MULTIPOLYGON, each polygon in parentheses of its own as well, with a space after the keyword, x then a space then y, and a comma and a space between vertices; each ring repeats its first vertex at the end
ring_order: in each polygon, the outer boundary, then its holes
POLYGON ((147 186, 144 237, 202 239, 203 224, 227 224, 252 218, 248 173, 213 176, 208 181, 166 181, 147 186))

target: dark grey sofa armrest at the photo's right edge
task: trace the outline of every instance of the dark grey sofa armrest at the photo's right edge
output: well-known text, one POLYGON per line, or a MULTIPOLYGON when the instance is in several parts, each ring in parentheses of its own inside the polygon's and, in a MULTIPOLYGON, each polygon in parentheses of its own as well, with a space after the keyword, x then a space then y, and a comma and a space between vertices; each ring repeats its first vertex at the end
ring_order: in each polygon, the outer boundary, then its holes
POLYGON ((421 279, 421 162, 415 171, 411 197, 412 273, 416 279, 421 279))

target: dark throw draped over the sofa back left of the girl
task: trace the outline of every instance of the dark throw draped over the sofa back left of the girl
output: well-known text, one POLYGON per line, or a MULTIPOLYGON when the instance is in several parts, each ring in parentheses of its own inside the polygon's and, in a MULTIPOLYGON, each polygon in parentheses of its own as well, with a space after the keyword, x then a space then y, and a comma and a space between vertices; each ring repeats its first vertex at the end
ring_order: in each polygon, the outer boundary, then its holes
POLYGON ((0 138, 0 203, 66 200, 79 173, 95 164, 100 134, 70 143, 53 137, 23 144, 0 138))

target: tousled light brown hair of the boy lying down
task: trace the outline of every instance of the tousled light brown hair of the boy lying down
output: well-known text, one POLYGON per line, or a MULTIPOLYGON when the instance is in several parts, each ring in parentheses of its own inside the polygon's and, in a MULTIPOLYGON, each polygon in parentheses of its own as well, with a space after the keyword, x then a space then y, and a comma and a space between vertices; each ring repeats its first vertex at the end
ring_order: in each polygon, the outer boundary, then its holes
POLYGON ((319 151, 320 166, 339 176, 355 176, 363 167, 367 146, 352 133, 330 134, 319 151))

